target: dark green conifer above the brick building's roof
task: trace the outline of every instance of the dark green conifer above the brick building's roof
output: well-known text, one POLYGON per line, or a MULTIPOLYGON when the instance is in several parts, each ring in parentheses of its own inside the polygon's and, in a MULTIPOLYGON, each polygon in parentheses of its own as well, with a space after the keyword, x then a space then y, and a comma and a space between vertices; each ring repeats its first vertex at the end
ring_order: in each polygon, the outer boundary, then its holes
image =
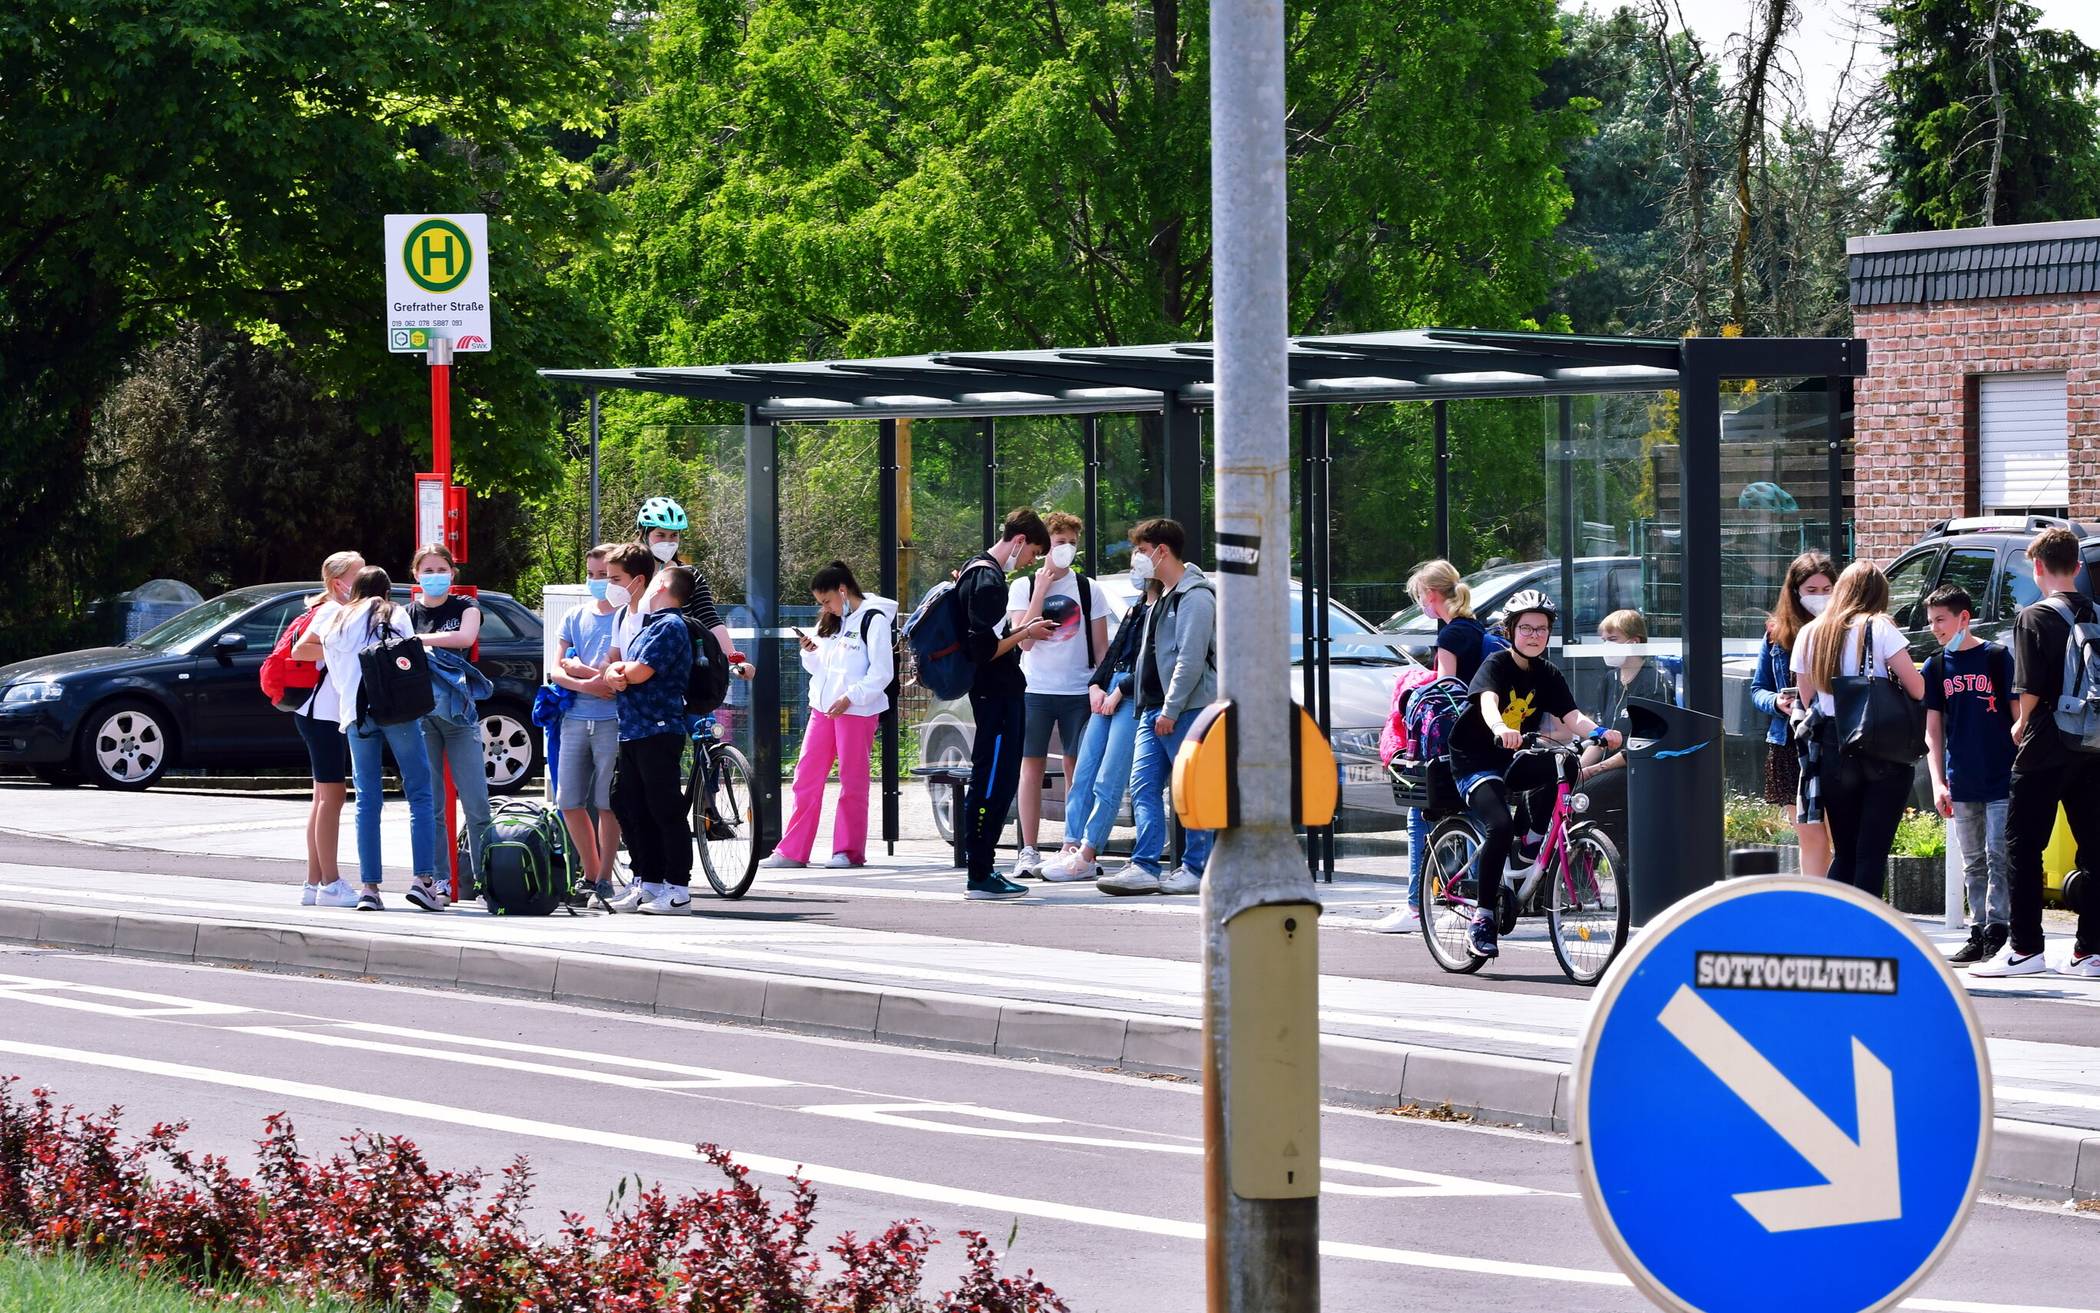
POLYGON ((2100 210, 2100 53, 2024 0, 1890 0, 1894 231, 2100 210))

